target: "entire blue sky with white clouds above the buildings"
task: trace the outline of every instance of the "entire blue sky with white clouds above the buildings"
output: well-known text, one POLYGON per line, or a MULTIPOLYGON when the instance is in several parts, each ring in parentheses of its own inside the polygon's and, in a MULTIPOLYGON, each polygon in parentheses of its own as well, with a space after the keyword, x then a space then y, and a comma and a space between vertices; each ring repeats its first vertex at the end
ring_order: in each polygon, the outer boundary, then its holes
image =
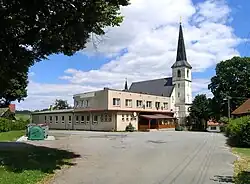
POLYGON ((248 0, 131 0, 119 27, 105 28, 74 56, 51 55, 29 71, 28 97, 17 109, 48 108, 55 99, 132 82, 171 76, 180 17, 193 97, 212 96, 208 84, 218 62, 250 56, 248 0), (156 3, 157 2, 157 3, 156 3), (101 39, 100 39, 101 38, 101 39), (97 48, 94 43, 98 42, 97 48))

